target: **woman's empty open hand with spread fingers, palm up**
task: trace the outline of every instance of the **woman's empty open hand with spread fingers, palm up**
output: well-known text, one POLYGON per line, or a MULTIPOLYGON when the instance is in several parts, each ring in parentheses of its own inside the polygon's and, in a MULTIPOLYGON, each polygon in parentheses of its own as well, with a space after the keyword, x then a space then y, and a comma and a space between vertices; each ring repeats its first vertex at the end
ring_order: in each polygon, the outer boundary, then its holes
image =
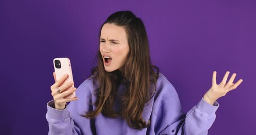
POLYGON ((228 81, 228 83, 226 83, 228 74, 230 74, 230 72, 227 71, 222 79, 222 82, 220 84, 217 84, 216 83, 216 74, 217 74, 217 72, 214 71, 212 87, 204 95, 204 100, 211 105, 213 105, 214 102, 219 97, 225 96, 228 92, 230 92, 233 89, 236 89, 236 87, 238 87, 242 83, 242 79, 238 80, 235 84, 233 83, 233 80, 235 80, 235 77, 236 77, 235 73, 232 74, 230 80, 228 81))

